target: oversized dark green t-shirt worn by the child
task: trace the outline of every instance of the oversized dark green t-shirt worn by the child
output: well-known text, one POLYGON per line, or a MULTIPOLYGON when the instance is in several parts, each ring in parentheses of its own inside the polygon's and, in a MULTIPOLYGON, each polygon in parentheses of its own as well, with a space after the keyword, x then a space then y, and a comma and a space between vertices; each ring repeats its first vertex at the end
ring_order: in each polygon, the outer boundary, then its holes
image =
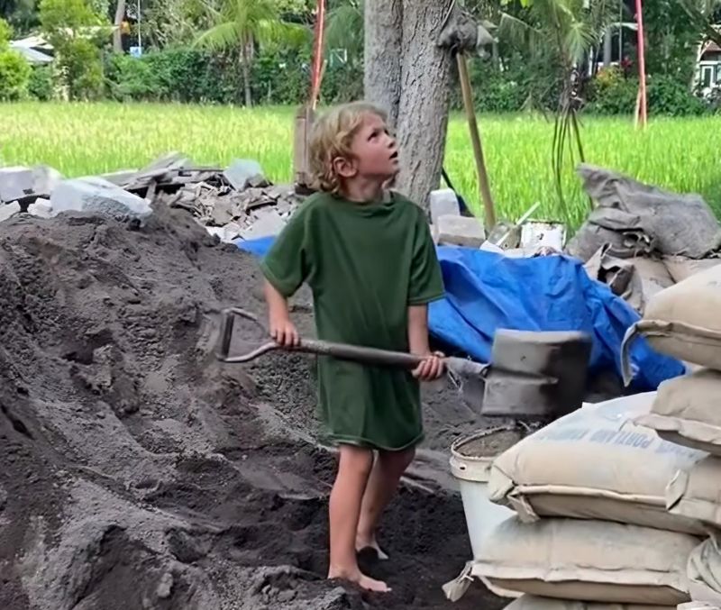
MULTIPOLYGON (((309 197, 261 263, 283 296, 307 282, 319 339, 408 351, 408 306, 443 297, 422 210, 393 193, 357 204, 309 197)), ((324 436, 399 451, 423 440, 420 387, 409 371, 318 358, 324 436)))

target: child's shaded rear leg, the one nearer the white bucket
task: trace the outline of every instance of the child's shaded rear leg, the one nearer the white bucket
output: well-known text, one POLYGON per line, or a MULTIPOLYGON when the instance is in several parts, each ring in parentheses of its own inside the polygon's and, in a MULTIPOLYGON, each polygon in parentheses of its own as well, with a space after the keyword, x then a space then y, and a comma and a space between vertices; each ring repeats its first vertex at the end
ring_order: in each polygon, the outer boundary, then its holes
POLYGON ((380 514, 383 513, 398 487, 398 481, 414 457, 415 449, 379 451, 360 505, 360 521, 355 539, 357 551, 370 547, 376 550, 379 559, 388 559, 388 555, 380 550, 376 540, 376 526, 380 514))

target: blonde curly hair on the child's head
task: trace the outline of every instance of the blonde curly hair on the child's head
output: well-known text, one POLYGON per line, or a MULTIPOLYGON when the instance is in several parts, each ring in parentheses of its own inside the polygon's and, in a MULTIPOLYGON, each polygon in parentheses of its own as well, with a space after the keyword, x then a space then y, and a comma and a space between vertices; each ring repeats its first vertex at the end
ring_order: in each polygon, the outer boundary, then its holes
POLYGON ((369 114, 388 121, 388 114, 379 106, 363 101, 335 106, 315 121, 308 144, 313 188, 333 195, 340 192, 341 178, 335 173, 333 159, 351 158, 353 136, 369 114))

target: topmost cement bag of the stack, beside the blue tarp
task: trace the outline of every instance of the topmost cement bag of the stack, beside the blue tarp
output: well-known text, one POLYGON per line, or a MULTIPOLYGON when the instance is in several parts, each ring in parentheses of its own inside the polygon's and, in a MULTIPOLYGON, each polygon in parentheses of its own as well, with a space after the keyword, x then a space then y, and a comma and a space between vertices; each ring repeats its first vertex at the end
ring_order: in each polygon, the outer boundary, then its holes
POLYGON ((701 271, 656 293, 643 320, 626 332, 621 346, 625 382, 632 377, 628 348, 637 335, 655 351, 721 370, 721 265, 701 271))

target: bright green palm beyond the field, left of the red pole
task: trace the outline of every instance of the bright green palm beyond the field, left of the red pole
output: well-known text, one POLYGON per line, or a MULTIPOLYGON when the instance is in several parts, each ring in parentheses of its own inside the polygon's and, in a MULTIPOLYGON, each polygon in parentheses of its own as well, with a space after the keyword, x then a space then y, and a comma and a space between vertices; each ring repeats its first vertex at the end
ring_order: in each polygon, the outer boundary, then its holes
POLYGON ((202 32, 197 46, 211 50, 230 50, 240 46, 245 105, 252 105, 251 58, 255 44, 299 46, 309 37, 304 25, 281 21, 274 0, 221 0, 219 8, 208 6, 215 25, 202 32))

